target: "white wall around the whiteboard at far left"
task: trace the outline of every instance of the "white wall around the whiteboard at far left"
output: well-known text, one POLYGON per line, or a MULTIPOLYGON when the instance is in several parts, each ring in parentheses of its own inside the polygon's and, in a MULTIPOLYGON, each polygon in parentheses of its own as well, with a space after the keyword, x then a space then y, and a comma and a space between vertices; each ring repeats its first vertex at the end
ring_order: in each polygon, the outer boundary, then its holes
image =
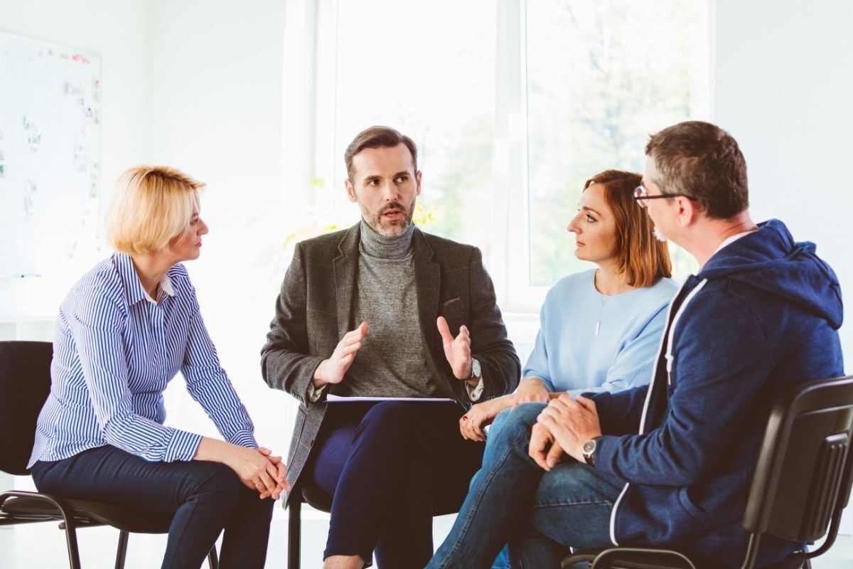
MULTIPOLYGON (((128 165, 150 160, 152 13, 148 0, 0 0, 0 31, 101 55, 102 188, 110 188, 128 165)), ((2 322, 15 314, 54 320, 71 283, 34 281, 6 282, 0 287, 0 340, 52 340, 51 323, 2 322)), ((4 476, 0 473, 3 489, 9 487, 4 476)))

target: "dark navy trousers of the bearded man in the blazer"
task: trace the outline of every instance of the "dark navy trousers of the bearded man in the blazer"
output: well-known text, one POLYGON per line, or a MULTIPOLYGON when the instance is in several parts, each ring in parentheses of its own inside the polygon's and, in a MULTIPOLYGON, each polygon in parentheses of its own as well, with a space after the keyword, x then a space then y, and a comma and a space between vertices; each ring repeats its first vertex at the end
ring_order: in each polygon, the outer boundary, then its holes
POLYGON ((357 554, 380 568, 421 569, 432 515, 456 512, 484 444, 459 433, 457 404, 329 404, 308 472, 334 496, 324 558, 357 554))

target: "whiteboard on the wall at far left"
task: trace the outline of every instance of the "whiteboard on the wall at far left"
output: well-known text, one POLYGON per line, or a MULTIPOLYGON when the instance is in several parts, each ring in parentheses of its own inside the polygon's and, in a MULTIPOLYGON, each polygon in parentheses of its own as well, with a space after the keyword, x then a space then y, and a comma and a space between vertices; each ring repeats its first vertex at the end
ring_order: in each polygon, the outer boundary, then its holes
POLYGON ((0 279, 91 264, 101 57, 0 32, 0 279))

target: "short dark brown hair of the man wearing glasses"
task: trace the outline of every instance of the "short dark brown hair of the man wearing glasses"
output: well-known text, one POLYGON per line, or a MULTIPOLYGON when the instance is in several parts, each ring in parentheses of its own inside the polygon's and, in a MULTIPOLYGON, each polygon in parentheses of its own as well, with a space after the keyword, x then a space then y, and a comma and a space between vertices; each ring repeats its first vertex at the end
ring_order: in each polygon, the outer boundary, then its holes
POLYGON ((646 154, 660 173, 663 194, 698 201, 709 218, 729 219, 749 207, 746 160, 734 138, 716 125, 689 120, 653 134, 646 154))

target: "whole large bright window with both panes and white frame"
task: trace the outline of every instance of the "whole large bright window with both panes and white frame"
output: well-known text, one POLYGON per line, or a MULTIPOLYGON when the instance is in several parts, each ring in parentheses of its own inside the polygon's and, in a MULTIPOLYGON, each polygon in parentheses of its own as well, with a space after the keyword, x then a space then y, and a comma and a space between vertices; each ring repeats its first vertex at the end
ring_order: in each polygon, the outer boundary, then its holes
POLYGON ((709 115, 708 0, 316 5, 314 211, 357 219, 345 146, 396 127, 421 150, 416 222, 479 246, 505 310, 536 311, 585 268, 566 225, 587 178, 641 171, 649 134, 709 115))

